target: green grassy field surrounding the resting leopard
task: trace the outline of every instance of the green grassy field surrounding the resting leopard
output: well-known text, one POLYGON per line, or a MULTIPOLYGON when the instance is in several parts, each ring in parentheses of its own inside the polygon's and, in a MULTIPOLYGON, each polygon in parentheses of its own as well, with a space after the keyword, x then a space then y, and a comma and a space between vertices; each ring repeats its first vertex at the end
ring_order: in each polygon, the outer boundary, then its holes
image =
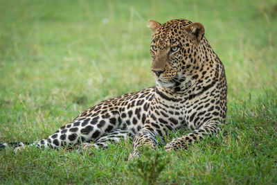
POLYGON ((87 107, 154 85, 146 23, 176 18, 204 24, 224 63, 220 136, 130 163, 132 141, 92 153, 3 150, 0 184, 277 184, 274 0, 0 0, 0 143, 42 139, 87 107))

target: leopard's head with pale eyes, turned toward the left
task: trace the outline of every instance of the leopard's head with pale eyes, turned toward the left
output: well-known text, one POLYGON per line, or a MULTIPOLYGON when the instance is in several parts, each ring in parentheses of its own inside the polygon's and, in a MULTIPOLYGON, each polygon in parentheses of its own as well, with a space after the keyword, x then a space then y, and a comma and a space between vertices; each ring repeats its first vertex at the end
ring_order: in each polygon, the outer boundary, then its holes
POLYGON ((152 74, 160 87, 184 92, 199 78, 205 60, 204 26, 186 19, 173 19, 165 24, 149 20, 152 30, 152 74))

